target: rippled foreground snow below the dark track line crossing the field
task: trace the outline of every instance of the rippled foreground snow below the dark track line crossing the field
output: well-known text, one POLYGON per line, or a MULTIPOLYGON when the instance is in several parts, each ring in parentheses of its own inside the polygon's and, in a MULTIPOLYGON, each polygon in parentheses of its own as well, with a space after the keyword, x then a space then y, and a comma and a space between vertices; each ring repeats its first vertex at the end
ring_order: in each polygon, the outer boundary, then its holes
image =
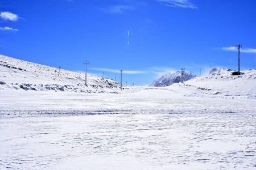
POLYGON ((255 169, 255 113, 1 119, 2 168, 255 169))

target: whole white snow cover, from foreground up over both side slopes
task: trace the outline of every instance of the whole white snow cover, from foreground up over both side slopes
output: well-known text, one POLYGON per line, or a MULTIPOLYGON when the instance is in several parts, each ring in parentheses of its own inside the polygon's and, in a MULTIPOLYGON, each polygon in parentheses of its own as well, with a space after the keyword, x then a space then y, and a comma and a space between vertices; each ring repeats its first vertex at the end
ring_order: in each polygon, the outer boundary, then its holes
POLYGON ((121 91, 16 61, 0 65, 0 169, 256 169, 255 70, 121 91))

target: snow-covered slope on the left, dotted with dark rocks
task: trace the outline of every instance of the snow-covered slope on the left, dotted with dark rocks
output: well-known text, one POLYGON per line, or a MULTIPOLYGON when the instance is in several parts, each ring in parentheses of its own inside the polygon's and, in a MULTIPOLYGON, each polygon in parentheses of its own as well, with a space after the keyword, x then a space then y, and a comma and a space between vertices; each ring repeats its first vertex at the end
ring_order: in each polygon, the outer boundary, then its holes
POLYGON ((0 90, 69 91, 86 93, 126 93, 141 87, 123 85, 112 79, 57 69, 0 55, 0 90), (60 72, 60 75, 59 75, 60 72))

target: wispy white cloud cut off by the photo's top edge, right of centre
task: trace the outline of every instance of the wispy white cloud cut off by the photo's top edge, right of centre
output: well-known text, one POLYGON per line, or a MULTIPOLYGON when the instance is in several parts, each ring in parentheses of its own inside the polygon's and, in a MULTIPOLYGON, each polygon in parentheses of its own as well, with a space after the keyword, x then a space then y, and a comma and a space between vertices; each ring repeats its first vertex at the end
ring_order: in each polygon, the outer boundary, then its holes
POLYGON ((158 2, 165 3, 166 6, 170 7, 181 7, 181 8, 197 8, 193 3, 191 3, 189 0, 155 0, 158 2))

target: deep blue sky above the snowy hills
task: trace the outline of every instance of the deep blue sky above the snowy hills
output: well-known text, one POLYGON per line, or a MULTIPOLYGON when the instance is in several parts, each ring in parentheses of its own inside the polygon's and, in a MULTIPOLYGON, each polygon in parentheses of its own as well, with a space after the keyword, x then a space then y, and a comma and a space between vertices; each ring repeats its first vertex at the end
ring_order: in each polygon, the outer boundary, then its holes
POLYGON ((256 69, 255 0, 4 0, 0 53, 143 86, 169 71, 256 69), (128 36, 129 32, 129 36, 128 36), (129 44, 127 43, 129 41, 129 44))

